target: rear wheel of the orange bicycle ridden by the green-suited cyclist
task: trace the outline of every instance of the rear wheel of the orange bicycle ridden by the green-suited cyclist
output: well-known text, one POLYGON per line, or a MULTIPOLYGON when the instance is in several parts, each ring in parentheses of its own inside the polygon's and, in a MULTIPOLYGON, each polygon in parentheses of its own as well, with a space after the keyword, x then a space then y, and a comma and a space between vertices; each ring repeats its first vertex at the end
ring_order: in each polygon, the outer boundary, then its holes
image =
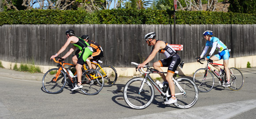
POLYGON ((104 84, 98 85, 99 83, 104 82, 104 78, 102 78, 102 77, 103 77, 102 74, 97 70, 90 69, 87 71, 83 71, 83 74, 82 74, 83 88, 81 89, 81 91, 86 95, 98 94, 104 86, 104 84), (96 75, 96 74, 99 74, 101 78, 92 79, 91 76, 96 75), (95 82, 97 82, 97 83, 95 83, 95 82))

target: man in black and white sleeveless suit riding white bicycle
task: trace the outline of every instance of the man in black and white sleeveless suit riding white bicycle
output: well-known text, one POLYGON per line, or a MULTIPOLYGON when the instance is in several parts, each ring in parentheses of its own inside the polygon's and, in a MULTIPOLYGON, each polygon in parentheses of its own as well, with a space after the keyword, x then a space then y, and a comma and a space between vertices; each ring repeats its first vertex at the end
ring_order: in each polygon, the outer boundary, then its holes
POLYGON ((172 80, 174 72, 177 70, 178 65, 181 63, 180 56, 176 53, 176 51, 165 41, 156 40, 155 32, 147 33, 144 37, 148 46, 153 45, 150 55, 147 59, 138 65, 138 68, 145 66, 151 60, 154 59, 157 52, 163 53, 166 56, 166 59, 159 60, 153 64, 154 69, 163 72, 160 67, 168 67, 167 75, 160 74, 163 78, 164 82, 168 82, 172 97, 165 101, 165 104, 173 104, 177 103, 177 99, 175 97, 175 87, 172 80))

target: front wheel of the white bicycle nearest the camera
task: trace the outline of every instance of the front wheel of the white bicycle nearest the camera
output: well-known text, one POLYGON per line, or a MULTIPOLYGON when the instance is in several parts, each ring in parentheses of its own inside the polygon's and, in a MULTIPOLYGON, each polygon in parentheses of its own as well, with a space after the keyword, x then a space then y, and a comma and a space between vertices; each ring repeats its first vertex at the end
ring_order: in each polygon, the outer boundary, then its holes
POLYGON ((124 100, 131 108, 147 108, 154 100, 154 88, 147 79, 143 85, 142 92, 139 93, 143 79, 139 77, 132 78, 124 86, 124 100))

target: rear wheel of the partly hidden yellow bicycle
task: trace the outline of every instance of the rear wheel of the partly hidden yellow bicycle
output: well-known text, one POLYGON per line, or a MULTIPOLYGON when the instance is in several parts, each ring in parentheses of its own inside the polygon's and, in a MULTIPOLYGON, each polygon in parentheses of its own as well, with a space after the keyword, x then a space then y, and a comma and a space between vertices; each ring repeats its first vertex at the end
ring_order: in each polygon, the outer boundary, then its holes
MULTIPOLYGON (((114 67, 110 65, 103 65, 102 69, 98 67, 97 69, 99 72, 102 73, 104 79, 104 87, 111 87, 117 81, 117 71, 114 67), (104 72, 106 74, 104 74, 104 72)), ((101 84, 100 84, 101 85, 101 84)))

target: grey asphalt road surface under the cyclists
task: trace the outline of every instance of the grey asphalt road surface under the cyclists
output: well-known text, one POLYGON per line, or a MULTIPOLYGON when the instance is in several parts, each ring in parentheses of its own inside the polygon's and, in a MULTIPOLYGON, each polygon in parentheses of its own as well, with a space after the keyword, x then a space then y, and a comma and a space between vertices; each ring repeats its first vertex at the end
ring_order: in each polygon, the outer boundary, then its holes
POLYGON ((240 70, 245 84, 239 91, 224 89, 215 82, 214 89, 200 93, 189 109, 163 104, 156 92, 154 102, 143 110, 131 109, 125 103, 125 80, 88 96, 72 92, 69 86, 61 93, 49 94, 42 89, 41 81, 0 75, 0 119, 255 119, 256 67, 240 70))

